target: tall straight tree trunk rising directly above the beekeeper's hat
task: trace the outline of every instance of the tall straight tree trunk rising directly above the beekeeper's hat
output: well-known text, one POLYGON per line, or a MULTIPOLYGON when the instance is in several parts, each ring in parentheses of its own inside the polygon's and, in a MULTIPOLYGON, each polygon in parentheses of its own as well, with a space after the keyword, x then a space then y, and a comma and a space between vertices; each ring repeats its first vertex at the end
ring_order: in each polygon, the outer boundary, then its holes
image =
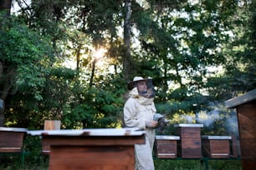
POLYGON ((124 46, 123 75, 125 81, 128 82, 133 65, 131 58, 131 0, 125 0, 124 46))

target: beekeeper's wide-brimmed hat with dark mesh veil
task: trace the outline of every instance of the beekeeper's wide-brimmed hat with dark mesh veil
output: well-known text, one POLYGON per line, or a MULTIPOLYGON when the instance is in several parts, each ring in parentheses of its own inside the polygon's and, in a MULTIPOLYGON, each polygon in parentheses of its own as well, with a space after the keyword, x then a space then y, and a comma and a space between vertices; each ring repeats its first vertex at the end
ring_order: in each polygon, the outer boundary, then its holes
POLYGON ((146 98, 155 97, 155 90, 153 86, 152 78, 143 78, 143 77, 134 77, 132 82, 129 82, 127 85, 128 90, 132 90, 134 87, 137 87, 139 82, 146 82, 146 89, 139 92, 139 95, 146 98))

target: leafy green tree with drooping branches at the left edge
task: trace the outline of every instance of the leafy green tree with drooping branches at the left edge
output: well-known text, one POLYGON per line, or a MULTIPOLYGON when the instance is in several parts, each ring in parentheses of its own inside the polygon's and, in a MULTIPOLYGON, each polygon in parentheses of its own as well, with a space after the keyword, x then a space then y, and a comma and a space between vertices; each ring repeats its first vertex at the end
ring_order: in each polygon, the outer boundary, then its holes
MULTIPOLYGON (((6 100, 27 84, 33 98, 41 100, 42 94, 35 87, 44 86, 44 73, 47 74, 48 70, 43 65, 52 62, 51 45, 15 18, 1 18, 0 23, 4 23, 0 29, 1 98, 6 100)), ((3 112, 1 126, 4 123, 3 112)))

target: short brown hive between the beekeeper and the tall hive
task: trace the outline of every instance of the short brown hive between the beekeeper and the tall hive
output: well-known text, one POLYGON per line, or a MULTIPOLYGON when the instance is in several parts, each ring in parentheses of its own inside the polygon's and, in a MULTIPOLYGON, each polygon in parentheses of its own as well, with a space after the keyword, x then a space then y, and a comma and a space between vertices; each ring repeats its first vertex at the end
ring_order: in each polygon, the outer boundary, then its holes
POLYGON ((156 136, 155 153, 156 158, 177 158, 178 136, 159 135, 156 136))

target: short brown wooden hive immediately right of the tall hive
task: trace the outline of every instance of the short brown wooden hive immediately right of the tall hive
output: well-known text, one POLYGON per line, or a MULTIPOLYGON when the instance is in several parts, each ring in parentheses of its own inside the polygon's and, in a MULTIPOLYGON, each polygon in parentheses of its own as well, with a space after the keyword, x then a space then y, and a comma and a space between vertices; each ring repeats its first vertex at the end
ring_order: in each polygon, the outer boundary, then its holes
POLYGON ((202 136, 202 153, 207 158, 229 158, 231 136, 202 136))

